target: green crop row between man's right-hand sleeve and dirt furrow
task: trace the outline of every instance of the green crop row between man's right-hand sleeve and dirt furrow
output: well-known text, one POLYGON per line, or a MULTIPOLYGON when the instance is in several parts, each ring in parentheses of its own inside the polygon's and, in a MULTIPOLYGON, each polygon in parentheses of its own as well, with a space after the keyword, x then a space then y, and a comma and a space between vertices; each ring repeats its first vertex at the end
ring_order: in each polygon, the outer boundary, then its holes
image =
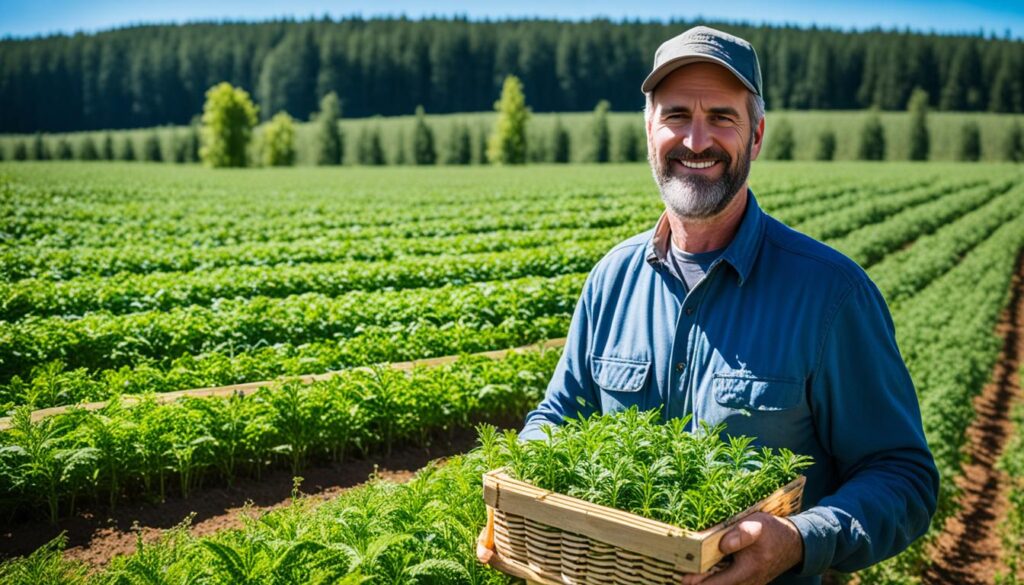
POLYGON ((1024 216, 1018 216, 893 314, 941 489, 928 535, 896 557, 860 572, 861 583, 916 583, 928 562, 928 543, 955 511, 954 478, 962 471, 965 431, 975 416, 971 399, 989 380, 998 356, 1001 340, 994 328, 1022 249, 1024 216))

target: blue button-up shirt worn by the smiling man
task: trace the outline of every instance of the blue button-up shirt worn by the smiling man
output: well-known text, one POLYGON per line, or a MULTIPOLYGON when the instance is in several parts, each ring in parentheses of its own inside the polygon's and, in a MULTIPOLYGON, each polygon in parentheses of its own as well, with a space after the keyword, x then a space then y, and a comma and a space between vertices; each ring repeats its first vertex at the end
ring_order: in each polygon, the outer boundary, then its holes
POLYGON ((666 216, 598 262, 520 436, 637 405, 810 455, 804 511, 791 516, 804 562, 777 582, 816 583, 924 534, 939 476, 878 288, 748 198, 733 241, 689 294, 666 266, 666 216))

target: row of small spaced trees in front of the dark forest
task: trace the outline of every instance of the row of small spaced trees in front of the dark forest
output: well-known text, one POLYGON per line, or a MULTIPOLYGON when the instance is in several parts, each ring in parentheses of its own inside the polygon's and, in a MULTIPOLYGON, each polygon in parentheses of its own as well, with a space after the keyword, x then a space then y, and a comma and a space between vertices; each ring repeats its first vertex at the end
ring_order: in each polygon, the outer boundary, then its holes
MULTIPOLYGON (((6 136, 0 138, 0 161, 380 166, 628 163, 646 158, 640 114, 612 116, 609 103, 602 100, 589 115, 541 115, 537 120, 526 107, 522 84, 514 76, 503 86, 494 119, 480 115, 428 118, 418 107, 412 120, 342 122, 338 97, 329 93, 310 124, 299 124, 289 114, 279 112, 257 126, 258 108, 245 90, 221 83, 207 95, 201 123, 120 132, 6 136), (391 126, 390 131, 382 131, 382 126, 391 126), (300 151, 305 153, 302 161, 300 151)), ((1020 117, 947 113, 931 121, 928 102, 928 95, 916 90, 908 112, 887 114, 888 121, 883 121, 878 111, 858 116, 860 120, 837 113, 810 124, 801 118, 821 115, 772 113, 763 158, 1024 162, 1020 117), (990 118, 983 120, 987 127, 984 141, 979 124, 983 118, 990 118), (807 144, 802 147, 802 140, 807 144), (840 152, 841 141, 849 143, 845 153, 840 152), (933 149, 933 143, 939 149, 933 149)))

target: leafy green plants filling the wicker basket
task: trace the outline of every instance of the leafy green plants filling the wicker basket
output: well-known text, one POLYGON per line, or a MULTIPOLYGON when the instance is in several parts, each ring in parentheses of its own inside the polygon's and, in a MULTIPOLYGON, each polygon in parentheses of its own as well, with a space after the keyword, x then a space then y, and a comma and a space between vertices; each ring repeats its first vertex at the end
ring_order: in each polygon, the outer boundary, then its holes
POLYGON ((539 488, 701 531, 797 478, 811 459, 757 449, 724 425, 686 430, 689 419, 659 424, 657 411, 621 413, 546 427, 547 440, 497 442, 481 432, 488 463, 539 488))

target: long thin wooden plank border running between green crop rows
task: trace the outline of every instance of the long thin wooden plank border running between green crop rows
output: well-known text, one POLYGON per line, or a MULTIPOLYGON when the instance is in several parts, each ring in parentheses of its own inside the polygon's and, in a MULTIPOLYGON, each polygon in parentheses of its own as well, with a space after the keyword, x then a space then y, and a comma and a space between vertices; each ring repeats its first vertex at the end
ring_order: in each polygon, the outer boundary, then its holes
MULTIPOLYGON (((522 353, 525 351, 534 351, 537 349, 553 349, 565 345, 565 338, 559 337, 555 339, 548 339, 547 341, 542 341, 541 343, 534 343, 531 345, 523 345, 520 347, 515 347, 512 349, 498 349, 495 351, 482 351, 480 353, 470 353, 470 356, 488 358, 490 360, 503 360, 510 353, 522 353)), ((453 362, 459 360, 462 356, 444 356, 443 358, 430 358, 427 360, 413 360, 412 362, 393 362, 389 364, 392 369, 400 371, 409 371, 414 368, 433 368, 436 366, 444 366, 452 364, 453 362)), ((246 382, 244 384, 232 384, 229 386, 213 386, 208 388, 191 388, 187 390, 176 390, 173 392, 161 392, 154 394, 158 404, 172 403, 178 399, 185 396, 190 398, 217 398, 217 396, 230 396, 232 394, 251 394, 259 388, 264 386, 269 386, 270 384, 275 384, 278 382, 298 380, 304 384, 309 384, 312 382, 318 382, 322 380, 328 380, 347 372, 354 370, 365 370, 369 371, 369 366, 360 366, 357 368, 349 368, 346 370, 335 370, 332 372, 325 372, 323 374, 307 374, 305 376, 283 376, 274 380, 263 380, 259 382, 246 382)), ((137 395, 125 394, 121 396, 121 404, 125 406, 131 406, 137 404, 141 399, 137 395)), ((40 409, 37 411, 32 411, 32 422, 39 422, 44 418, 48 418, 54 415, 62 414, 71 409, 83 409, 87 411, 99 410, 106 406, 106 401, 98 403, 84 403, 80 405, 70 405, 62 407, 52 407, 47 409, 40 409)), ((0 418, 0 432, 10 428, 10 417, 0 418)))

